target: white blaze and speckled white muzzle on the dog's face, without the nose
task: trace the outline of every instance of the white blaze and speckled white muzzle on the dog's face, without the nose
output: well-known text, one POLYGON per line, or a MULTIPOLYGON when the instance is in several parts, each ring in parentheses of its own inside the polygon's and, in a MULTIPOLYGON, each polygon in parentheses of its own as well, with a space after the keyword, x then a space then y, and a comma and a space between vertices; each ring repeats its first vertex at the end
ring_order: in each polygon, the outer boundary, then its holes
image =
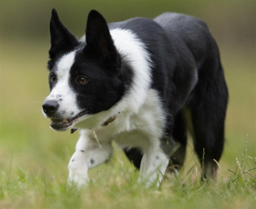
POLYGON ((61 118, 69 119, 81 112, 76 104, 76 94, 69 84, 70 68, 74 61, 75 51, 63 55, 63 57, 55 64, 57 82, 50 92, 50 95, 46 97, 46 100, 55 100, 58 102, 59 108, 57 113, 61 118))

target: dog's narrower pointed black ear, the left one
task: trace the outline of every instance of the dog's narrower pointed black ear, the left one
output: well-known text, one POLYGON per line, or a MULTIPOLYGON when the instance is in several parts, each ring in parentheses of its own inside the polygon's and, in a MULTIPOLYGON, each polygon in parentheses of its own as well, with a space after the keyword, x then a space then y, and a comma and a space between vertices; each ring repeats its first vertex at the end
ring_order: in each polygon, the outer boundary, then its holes
POLYGON ((50 59, 73 50, 75 46, 79 45, 78 39, 60 22, 55 9, 52 10, 50 18, 50 45, 50 59))

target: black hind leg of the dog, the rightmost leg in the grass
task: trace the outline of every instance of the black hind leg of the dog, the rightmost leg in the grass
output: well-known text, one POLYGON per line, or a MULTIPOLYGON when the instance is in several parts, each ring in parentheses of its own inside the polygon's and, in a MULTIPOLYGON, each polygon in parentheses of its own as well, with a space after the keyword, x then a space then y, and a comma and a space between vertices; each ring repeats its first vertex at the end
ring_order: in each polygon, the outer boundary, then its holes
POLYGON ((228 88, 219 63, 205 63, 198 83, 188 100, 193 123, 194 147, 203 167, 203 178, 216 177, 224 145, 224 122, 228 88), (215 161, 213 161, 215 159, 215 161))

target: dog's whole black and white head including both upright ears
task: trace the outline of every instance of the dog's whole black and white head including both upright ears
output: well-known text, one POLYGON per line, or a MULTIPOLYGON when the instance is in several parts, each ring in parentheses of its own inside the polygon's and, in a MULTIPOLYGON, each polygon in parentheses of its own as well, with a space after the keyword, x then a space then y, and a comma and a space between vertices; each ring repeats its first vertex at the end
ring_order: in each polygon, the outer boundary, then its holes
POLYGON ((125 90, 121 58, 101 14, 90 11, 85 40, 78 41, 53 9, 50 44, 50 95, 43 102, 50 127, 70 129, 120 100, 125 90))

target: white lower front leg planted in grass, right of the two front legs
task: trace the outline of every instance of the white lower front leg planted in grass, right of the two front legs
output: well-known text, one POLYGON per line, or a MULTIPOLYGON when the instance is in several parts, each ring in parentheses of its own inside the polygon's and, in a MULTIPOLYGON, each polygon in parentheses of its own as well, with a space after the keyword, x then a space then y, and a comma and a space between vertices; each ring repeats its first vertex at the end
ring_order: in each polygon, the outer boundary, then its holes
POLYGON ((146 181, 146 186, 151 186, 157 181, 156 186, 159 186, 168 165, 169 157, 164 151, 160 149, 145 151, 140 166, 139 181, 146 181))

